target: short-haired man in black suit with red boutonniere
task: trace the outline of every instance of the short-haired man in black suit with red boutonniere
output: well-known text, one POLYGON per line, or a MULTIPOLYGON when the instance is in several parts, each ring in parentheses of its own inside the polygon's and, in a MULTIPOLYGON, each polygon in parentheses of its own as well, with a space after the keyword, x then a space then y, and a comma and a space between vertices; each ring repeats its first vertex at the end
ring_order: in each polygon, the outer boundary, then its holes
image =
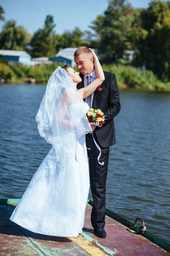
MULTIPOLYGON (((80 89, 87 86, 96 78, 92 52, 87 47, 80 47, 75 51, 74 59, 78 69, 81 71, 80 76, 82 81, 77 85, 77 88, 80 89)), ((94 228, 94 234, 101 238, 106 237, 104 220, 106 211, 106 179, 109 146, 115 144, 115 125, 113 118, 121 109, 115 74, 104 71, 104 76, 105 81, 101 84, 101 91, 95 91, 95 93, 86 98, 89 108, 99 108, 104 112, 106 122, 103 126, 96 127, 93 131, 94 139, 101 148, 99 162, 103 161, 103 166, 98 163, 100 151, 94 143, 92 134, 86 134, 86 147, 90 148, 87 152, 89 157, 90 186, 94 202, 91 222, 94 228)))

